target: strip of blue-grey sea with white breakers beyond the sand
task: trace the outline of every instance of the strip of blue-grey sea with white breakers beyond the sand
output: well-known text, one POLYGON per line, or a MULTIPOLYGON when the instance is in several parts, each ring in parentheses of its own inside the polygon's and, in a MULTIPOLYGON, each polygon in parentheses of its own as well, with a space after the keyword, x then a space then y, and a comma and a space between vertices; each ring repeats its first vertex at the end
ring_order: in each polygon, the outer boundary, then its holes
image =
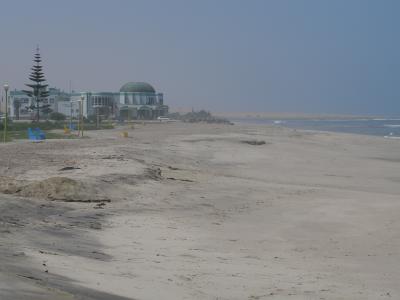
POLYGON ((349 120, 232 119, 237 124, 268 124, 289 128, 400 138, 400 118, 349 120))

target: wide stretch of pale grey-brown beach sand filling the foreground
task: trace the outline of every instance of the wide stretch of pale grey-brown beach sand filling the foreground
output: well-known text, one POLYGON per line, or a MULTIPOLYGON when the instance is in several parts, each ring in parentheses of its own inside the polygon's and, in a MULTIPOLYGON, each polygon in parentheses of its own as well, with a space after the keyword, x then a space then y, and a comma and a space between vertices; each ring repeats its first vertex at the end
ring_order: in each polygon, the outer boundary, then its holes
POLYGON ((400 141, 120 131, 0 145, 0 299, 400 299, 400 141))

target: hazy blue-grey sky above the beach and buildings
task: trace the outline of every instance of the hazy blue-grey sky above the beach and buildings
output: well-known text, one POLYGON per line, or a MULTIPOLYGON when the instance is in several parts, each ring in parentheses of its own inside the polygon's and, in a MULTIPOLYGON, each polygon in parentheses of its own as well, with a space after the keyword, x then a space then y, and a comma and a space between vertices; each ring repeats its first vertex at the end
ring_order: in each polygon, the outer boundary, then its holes
POLYGON ((400 1, 1 1, 0 82, 147 81, 172 109, 400 115, 400 1))

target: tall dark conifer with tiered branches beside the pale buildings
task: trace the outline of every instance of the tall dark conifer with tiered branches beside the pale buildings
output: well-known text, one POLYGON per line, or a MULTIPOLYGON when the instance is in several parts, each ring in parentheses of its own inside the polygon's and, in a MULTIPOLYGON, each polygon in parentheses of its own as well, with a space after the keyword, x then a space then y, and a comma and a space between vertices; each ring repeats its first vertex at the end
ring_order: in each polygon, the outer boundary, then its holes
POLYGON ((26 84, 31 90, 24 90, 24 93, 32 99, 31 105, 28 108, 36 112, 36 120, 39 122, 40 112, 49 113, 50 111, 50 105, 47 104, 47 97, 49 96, 49 92, 47 91, 48 85, 45 84, 46 79, 44 78, 43 67, 40 64, 42 59, 40 58, 39 48, 36 49, 33 61, 35 64, 29 75, 29 80, 31 80, 32 83, 26 84))

